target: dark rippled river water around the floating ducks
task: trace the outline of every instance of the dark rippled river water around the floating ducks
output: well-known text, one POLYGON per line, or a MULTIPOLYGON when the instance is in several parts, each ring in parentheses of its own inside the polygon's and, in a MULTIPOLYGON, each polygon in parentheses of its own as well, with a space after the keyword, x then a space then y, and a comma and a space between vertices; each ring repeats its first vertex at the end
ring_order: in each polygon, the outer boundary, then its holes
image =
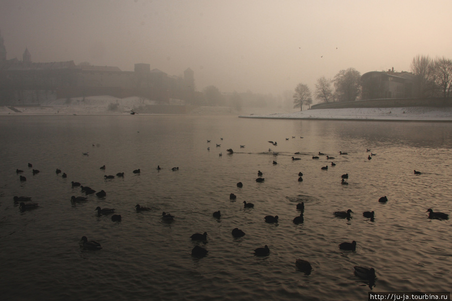
POLYGON ((368 291, 452 287, 451 220, 425 213, 452 213, 451 123, 8 116, 0 118, 0 141, 4 300, 335 301, 365 300, 368 291), (372 160, 367 148, 377 154, 372 160), (335 159, 311 159, 318 152, 335 159), (33 176, 28 163, 41 172, 33 176), (258 170, 264 183, 255 181, 258 170), (124 178, 104 180, 119 172, 124 178), (341 185, 345 173, 349 185, 341 185), (89 195, 73 205, 71 196, 83 194, 71 181, 106 197, 89 195), (30 196, 40 206, 21 213, 14 196, 30 196), (378 202, 382 196, 386 204, 378 202), (244 209, 243 201, 255 207, 244 209), (302 201, 304 223, 295 225, 302 201), (136 204, 152 210, 137 213, 136 204), (97 216, 97 206, 115 208, 122 222, 97 216), (352 219, 333 216, 347 209, 352 219), (219 220, 212 217, 217 210, 219 220), (175 216, 172 223, 162 221, 163 211, 175 216), (375 211, 375 220, 363 211, 375 211), (266 215, 278 215, 279 223, 265 223, 266 215), (233 238, 236 227, 246 235, 233 238), (204 231, 205 243, 190 240, 204 231), (82 236, 103 248, 81 249, 82 236), (356 251, 338 248, 353 240, 356 251), (192 257, 195 245, 207 256, 192 257), (270 255, 254 256, 264 245, 270 255), (296 259, 311 263, 310 275, 297 270, 296 259), (375 285, 355 276, 355 265, 374 267, 375 285))

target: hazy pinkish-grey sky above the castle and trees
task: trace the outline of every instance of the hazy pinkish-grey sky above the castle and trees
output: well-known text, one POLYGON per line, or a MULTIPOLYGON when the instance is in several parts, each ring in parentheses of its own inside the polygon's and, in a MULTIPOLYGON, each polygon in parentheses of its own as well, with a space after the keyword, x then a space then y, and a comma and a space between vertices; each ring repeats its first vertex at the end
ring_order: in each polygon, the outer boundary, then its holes
POLYGON ((7 58, 87 61, 168 75, 197 90, 282 93, 353 67, 409 71, 452 58, 451 0, 0 0, 7 58))

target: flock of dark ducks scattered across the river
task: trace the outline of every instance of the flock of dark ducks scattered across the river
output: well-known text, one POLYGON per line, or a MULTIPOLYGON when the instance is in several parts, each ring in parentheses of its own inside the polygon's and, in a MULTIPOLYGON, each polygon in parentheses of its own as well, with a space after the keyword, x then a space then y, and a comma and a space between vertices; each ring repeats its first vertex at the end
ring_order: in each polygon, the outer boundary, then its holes
MULTIPOLYGON (((220 139, 223 140, 222 138, 220 138, 220 139)), ((209 142, 210 142, 210 140, 207 140, 207 143, 209 143, 209 142)), ((273 145, 277 146, 277 142, 276 141, 275 142, 268 141, 268 142, 270 142, 273 145)), ((219 147, 220 144, 216 144, 216 146, 219 147)), ((245 145, 240 145, 240 147, 245 147, 245 145)), ((207 148, 207 149, 209 149, 209 148, 207 148)), ((228 149, 228 152, 229 152, 229 154, 233 154, 234 153, 232 151, 232 149, 228 149)), ((367 149, 367 152, 370 152, 370 149, 367 149)), ((299 154, 299 153, 295 153, 295 155, 297 155, 297 154, 299 154)), ((347 153, 342 152, 342 151, 339 152, 339 154, 341 156, 342 155, 348 155, 347 153)), ((88 156, 88 153, 83 153, 83 155, 84 156, 88 156)), ((375 156, 376 154, 372 154, 371 153, 371 155, 375 156)), ((368 156, 368 160, 372 159, 371 155, 368 156)), ((220 153, 220 156, 221 156, 221 153, 220 153)), ((318 152, 318 156, 324 156, 324 154, 321 153, 321 152, 318 152)), ((313 156, 312 159, 319 159, 318 156, 313 156)), ((300 158, 295 158, 295 157, 292 157, 291 159, 293 161, 301 160, 300 158)), ((326 159, 327 160, 333 160, 334 158, 326 155, 326 159)), ((277 162, 274 161, 273 164, 277 164, 277 162)), ((331 162, 331 166, 334 166, 334 165, 335 164, 333 162, 331 162)), ((28 167, 29 167, 29 169, 31 169, 33 167, 33 165, 29 163, 28 167)), ((321 167, 321 170, 327 170, 327 169, 328 169, 328 166, 321 167)), ((104 165, 101 166, 100 170, 105 170, 105 166, 104 165)), ((157 167, 157 170, 159 170, 159 171, 161 170, 160 166, 157 167)), ((174 167, 171 170, 172 171, 177 171, 177 170, 179 170, 179 168, 178 167, 174 167)), ((140 172, 141 172, 140 169, 137 169, 137 170, 133 171, 134 174, 140 174, 140 172)), ((16 174, 20 176, 20 181, 21 182, 26 181, 26 178, 24 176, 22 176, 23 173, 24 173, 23 170, 19 170, 19 169, 16 170, 16 174)), ((40 173, 39 170, 32 169, 33 176, 35 176, 35 175, 37 175, 39 173, 40 173)), ((57 175, 59 175, 61 173, 62 173, 62 171, 60 169, 56 170, 56 174, 57 175)), ((414 175, 421 175, 421 174, 422 174, 421 172, 414 170, 414 175)), ((265 179, 262 178, 263 173, 259 170, 257 175, 258 175, 258 178, 256 179, 256 182, 263 183, 265 181, 265 179)), ((303 179, 302 179, 303 174, 301 172, 298 174, 298 176, 299 176, 298 181, 299 182, 303 181, 303 179)), ((63 173, 62 177, 66 178, 67 175, 65 173, 63 173)), ((124 177, 124 173, 123 172, 122 173, 117 173, 116 177, 124 177)), ((114 178, 115 178, 115 176, 112 176, 112 175, 104 175, 104 179, 105 180, 107 180, 107 179, 114 179, 114 178)), ((342 182, 341 183, 343 185, 348 185, 348 182, 346 182, 345 180, 349 178, 349 175, 348 174, 344 174, 344 175, 341 176, 341 178, 342 178, 342 182)), ((237 183, 237 186, 238 187, 243 187, 242 182, 237 183)), ((72 181, 71 182, 71 187, 72 188, 80 187, 81 192, 85 193, 85 195, 91 195, 91 194, 95 193, 96 196, 99 197, 99 198, 104 198, 106 196, 106 193, 103 190, 101 190, 100 192, 96 192, 96 191, 94 191, 93 189, 91 189, 91 188, 89 188, 87 186, 82 186, 79 182, 73 182, 72 181)), ((18 196, 15 196, 13 199, 14 199, 15 203, 19 203, 19 208, 20 208, 21 212, 24 212, 24 211, 27 211, 27 210, 31 210, 31 209, 35 209, 35 208, 39 207, 38 203, 31 202, 31 200, 32 200, 31 197, 26 197, 26 196, 18 197, 18 196)), ((230 194, 230 200, 231 201, 235 201, 236 199, 237 199, 237 196, 235 194, 231 193, 230 194)), ((77 196, 77 197, 76 196, 72 196, 70 201, 72 203, 80 203, 80 202, 88 201, 88 198, 85 197, 85 196, 77 196)), ((384 197, 381 197, 378 201, 380 203, 386 203, 386 202, 388 202, 388 199, 387 199, 386 196, 384 196, 384 197)), ((254 204, 249 203, 247 201, 243 201, 243 204, 244 204, 244 208, 249 208, 249 209, 254 208, 254 204)), ((301 224, 301 223, 304 222, 304 216, 303 216, 303 214, 304 214, 304 203, 297 204, 296 209, 298 211, 300 211, 300 214, 299 214, 299 216, 296 216, 293 219, 293 223, 294 224, 301 224)), ((151 208, 142 207, 139 204, 137 204, 135 206, 135 210, 137 212, 151 211, 151 208)), ((115 213, 115 209, 100 208, 100 207, 96 207, 94 209, 94 211, 97 211, 97 215, 98 216, 110 215, 110 214, 115 213)), ((448 219, 448 214, 445 214, 445 213, 442 213, 442 212, 434 212, 432 209, 428 209, 426 212, 429 213, 428 218, 430 218, 430 219, 440 219, 440 220, 448 219)), ((354 213, 354 212, 351 209, 348 209, 347 211, 336 211, 336 212, 333 212, 333 215, 335 217, 337 217, 337 218, 345 218, 345 219, 350 220, 352 218, 352 216, 351 216, 352 213, 354 213)), ((214 218, 219 219, 221 217, 221 213, 220 213, 220 211, 215 211, 215 212, 213 212, 212 216, 214 218)), ((363 216, 366 217, 366 218, 369 218, 371 221, 374 221, 375 212, 374 211, 365 211, 365 212, 363 212, 363 216)), ((173 215, 169 214, 169 213, 163 212, 161 218, 162 218, 162 221, 164 221, 164 222, 172 222, 175 217, 173 215)), ((277 224, 278 223, 278 219, 279 218, 278 218, 277 215, 276 216, 268 215, 268 216, 264 217, 264 220, 265 220, 266 223, 275 223, 275 224, 277 224)), ((114 222, 121 222, 122 218, 121 218, 121 215, 113 214, 111 216, 111 220, 114 221, 114 222)), ((231 234, 232 234, 232 236, 234 238, 240 238, 240 237, 243 237, 245 235, 245 232, 243 232, 239 228, 234 228, 232 230, 231 234)), ((206 241, 207 240, 207 233, 206 232, 204 232, 202 234, 201 233, 194 233, 193 235, 190 236, 190 238, 193 241, 206 241)), ((94 240, 88 240, 86 236, 82 236, 79 244, 80 244, 81 248, 86 249, 86 250, 100 250, 100 249, 102 249, 102 246, 100 245, 100 243, 98 243, 98 242, 96 242, 94 240)), ((343 242, 343 243, 338 245, 339 249, 346 250, 346 251, 355 251, 356 250, 356 246, 357 246, 357 242, 356 241, 343 242)), ((201 246, 198 246, 198 245, 196 245, 191 250, 191 255, 195 256, 195 257, 198 257, 198 258, 202 258, 202 257, 206 256, 207 253, 208 253, 208 251, 205 248, 203 248, 201 246)), ((265 245, 264 247, 258 247, 258 248, 256 248, 254 250, 254 255, 256 255, 256 256, 269 256, 270 255, 270 249, 269 249, 269 247, 267 245, 265 245)), ((304 272, 307 275, 310 274, 310 272, 312 271, 311 264, 308 261, 304 260, 304 259, 297 259, 296 262, 295 262, 295 265, 296 265, 298 270, 304 272)), ((374 281, 375 281, 375 269, 374 268, 355 266, 354 269, 355 269, 355 275, 357 275, 358 277, 360 277, 362 279, 365 279, 365 280, 369 281, 369 285, 370 286, 374 283, 374 281)))

